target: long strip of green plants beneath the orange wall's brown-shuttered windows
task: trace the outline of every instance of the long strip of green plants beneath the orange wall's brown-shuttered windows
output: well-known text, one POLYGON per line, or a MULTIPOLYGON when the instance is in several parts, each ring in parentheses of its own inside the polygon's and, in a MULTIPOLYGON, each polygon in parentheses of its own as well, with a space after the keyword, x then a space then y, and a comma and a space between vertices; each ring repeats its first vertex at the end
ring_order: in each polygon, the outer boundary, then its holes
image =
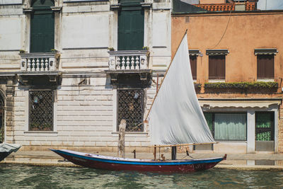
POLYGON ((256 81, 256 82, 217 82, 217 83, 205 83, 204 88, 278 88, 278 83, 274 81, 256 81))

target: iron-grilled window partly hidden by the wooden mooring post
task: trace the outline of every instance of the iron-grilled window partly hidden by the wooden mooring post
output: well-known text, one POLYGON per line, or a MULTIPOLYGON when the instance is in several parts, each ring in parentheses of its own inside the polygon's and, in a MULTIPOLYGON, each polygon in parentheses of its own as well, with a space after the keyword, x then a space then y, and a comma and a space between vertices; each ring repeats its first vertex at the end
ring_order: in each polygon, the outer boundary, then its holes
POLYGON ((144 90, 117 90, 117 131, 122 119, 127 122, 127 132, 144 131, 144 90))

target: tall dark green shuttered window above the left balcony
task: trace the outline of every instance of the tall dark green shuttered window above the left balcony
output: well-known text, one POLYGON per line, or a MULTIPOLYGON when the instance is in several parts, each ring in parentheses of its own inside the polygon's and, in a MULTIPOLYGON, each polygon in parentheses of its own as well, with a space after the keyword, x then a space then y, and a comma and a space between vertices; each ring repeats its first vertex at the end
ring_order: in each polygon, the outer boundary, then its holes
POLYGON ((30 52, 50 52, 54 49, 54 1, 33 0, 30 5, 30 52))

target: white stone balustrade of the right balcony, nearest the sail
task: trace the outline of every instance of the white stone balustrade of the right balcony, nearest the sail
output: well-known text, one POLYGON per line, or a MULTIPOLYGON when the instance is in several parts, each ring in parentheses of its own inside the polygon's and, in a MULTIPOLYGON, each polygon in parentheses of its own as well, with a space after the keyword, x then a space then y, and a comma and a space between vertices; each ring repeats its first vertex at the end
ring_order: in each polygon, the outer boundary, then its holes
POLYGON ((148 50, 108 51, 110 70, 148 69, 148 50))

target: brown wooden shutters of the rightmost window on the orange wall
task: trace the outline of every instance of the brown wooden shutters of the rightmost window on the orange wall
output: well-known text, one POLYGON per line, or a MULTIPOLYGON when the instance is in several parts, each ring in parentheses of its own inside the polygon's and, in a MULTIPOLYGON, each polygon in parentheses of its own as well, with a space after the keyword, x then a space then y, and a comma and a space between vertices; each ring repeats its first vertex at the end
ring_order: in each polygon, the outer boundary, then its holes
POLYGON ((258 79, 274 79, 274 55, 258 55, 258 79))

